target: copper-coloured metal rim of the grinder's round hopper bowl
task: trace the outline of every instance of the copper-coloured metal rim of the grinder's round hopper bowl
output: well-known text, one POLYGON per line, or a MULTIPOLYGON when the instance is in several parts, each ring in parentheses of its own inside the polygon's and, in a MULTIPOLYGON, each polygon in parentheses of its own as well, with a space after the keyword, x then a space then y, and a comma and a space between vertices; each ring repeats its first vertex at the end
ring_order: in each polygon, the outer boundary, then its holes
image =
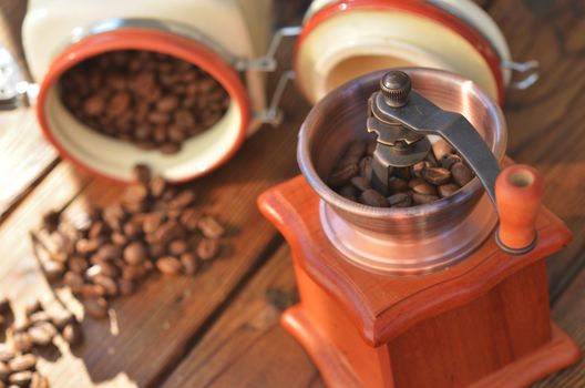
MULTIPOLYGON (((407 73, 414 76, 434 76, 442 80, 445 83, 460 83, 465 84, 466 93, 474 94, 480 99, 486 106, 493 108, 490 110, 492 113, 492 119, 494 121, 494 126, 499 130, 494 132, 494 142, 491 146, 495 159, 501 162, 504 157, 505 147, 506 147, 506 124, 500 106, 478 85, 470 83, 464 78, 453 74, 448 71, 439 69, 423 69, 423 68, 399 68, 407 73)), ((343 211, 347 213, 356 214, 367 218, 383 218, 383 219, 399 219, 407 217, 423 217, 432 213, 443 212, 448 207, 456 206, 456 204, 464 203, 469 201, 478 191, 482 187, 480 180, 474 177, 466 185, 461 187, 456 193, 450 195, 449 197, 440 198, 435 202, 417 205, 411 207, 373 207, 363 205, 336 193, 330 188, 327 183, 319 176, 317 170, 314 165, 314 160, 311 156, 311 131, 315 131, 315 123, 319 121, 318 111, 321 110, 321 106, 328 106, 333 104, 336 100, 339 100, 340 96, 345 95, 352 88, 357 88, 362 78, 371 78, 373 74, 377 74, 377 78, 380 79, 384 74, 386 70, 374 71, 369 74, 365 74, 346 83, 342 86, 337 88, 331 91, 328 95, 321 99, 309 112, 305 122, 302 123, 298 136, 298 146, 297 146, 297 161, 300 169, 300 172, 309 183, 309 185, 315 190, 315 192, 324 200, 326 203, 343 211)), ((366 103, 366 102, 365 102, 366 103)))

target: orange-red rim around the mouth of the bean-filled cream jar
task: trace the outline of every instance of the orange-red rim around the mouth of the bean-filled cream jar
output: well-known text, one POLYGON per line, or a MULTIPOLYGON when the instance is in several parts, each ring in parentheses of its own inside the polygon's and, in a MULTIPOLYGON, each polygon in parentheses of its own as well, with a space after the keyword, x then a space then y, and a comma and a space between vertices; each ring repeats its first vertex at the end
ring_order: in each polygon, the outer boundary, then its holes
MULTIPOLYGON (((84 160, 79 155, 73 155, 73 153, 75 153, 73 152, 74 150, 68 149, 68 146, 57 139, 54 133, 55 129, 50 124, 45 108, 47 102, 50 99, 50 93, 59 83, 61 75, 63 75, 68 70, 92 57, 105 52, 121 50, 144 50, 164 53, 197 65, 211 76, 213 76, 226 90, 229 98, 232 99, 230 105, 233 105, 228 108, 228 111, 230 109, 235 109, 236 111, 234 114, 239 116, 239 119, 238 116, 234 119, 239 121, 237 125, 237 132, 230 137, 230 144, 226 146, 222 154, 215 155, 215 159, 213 159, 209 163, 206 163, 204 166, 196 166, 196 169, 193 169, 193 171, 189 171, 188 173, 183 173, 177 176, 163 174, 165 178, 167 178, 170 182, 181 183, 207 174, 226 163, 242 146, 242 143, 246 137, 249 121, 249 100, 236 70, 232 68, 232 65, 222 55, 195 40, 163 30, 147 28, 125 28, 91 34, 66 47, 52 61, 40 84, 37 116, 42 132, 64 159, 69 160, 81 170, 93 175, 107 177, 119 182, 131 182, 133 180, 131 175, 132 166, 124 175, 116 175, 96 167, 95 164, 92 165, 92 163, 89 163, 88 159, 84 160)), ((227 112, 224 118, 226 115, 227 112)), ((193 140, 195 139, 187 141, 193 140)), ((112 141, 112 144, 120 142, 115 139, 111 139, 110 141, 112 141)), ((130 143, 127 145, 133 146, 130 143)), ((171 157, 173 155, 171 155, 171 157)))

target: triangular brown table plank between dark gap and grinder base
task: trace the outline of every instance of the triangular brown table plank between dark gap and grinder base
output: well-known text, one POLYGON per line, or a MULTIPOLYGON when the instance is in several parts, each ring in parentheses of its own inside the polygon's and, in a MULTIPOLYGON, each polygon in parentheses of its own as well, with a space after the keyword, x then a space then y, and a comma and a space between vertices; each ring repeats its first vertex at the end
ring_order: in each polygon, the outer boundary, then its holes
POLYGON ((234 299, 165 387, 321 386, 305 350, 279 325, 295 299, 288 247, 280 247, 234 299))

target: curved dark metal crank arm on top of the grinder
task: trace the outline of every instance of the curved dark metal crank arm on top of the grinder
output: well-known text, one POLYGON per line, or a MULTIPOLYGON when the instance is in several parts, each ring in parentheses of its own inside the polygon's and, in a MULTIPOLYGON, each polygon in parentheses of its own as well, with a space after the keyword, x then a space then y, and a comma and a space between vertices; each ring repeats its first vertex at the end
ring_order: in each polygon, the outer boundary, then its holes
POLYGON ((377 108, 418 133, 444 139, 473 170, 495 205, 500 165, 473 125, 463 115, 443 111, 415 91, 409 92, 408 102, 397 108, 388 103, 383 93, 377 93, 377 108))

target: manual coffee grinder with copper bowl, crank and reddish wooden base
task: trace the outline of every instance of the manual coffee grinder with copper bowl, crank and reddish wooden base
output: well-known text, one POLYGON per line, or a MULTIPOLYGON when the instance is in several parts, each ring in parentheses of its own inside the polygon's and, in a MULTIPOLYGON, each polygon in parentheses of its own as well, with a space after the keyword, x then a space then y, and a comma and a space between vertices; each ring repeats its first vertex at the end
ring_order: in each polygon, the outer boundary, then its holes
POLYGON ((544 263, 571 233, 505 142, 497 105, 437 70, 370 73, 310 111, 302 175, 258 202, 292 251, 300 302, 281 323, 329 386, 522 387, 578 360, 551 320, 544 263), (376 139, 383 192, 389 170, 424 159, 435 136, 476 175, 449 197, 380 208, 326 184, 350 142, 376 139))

